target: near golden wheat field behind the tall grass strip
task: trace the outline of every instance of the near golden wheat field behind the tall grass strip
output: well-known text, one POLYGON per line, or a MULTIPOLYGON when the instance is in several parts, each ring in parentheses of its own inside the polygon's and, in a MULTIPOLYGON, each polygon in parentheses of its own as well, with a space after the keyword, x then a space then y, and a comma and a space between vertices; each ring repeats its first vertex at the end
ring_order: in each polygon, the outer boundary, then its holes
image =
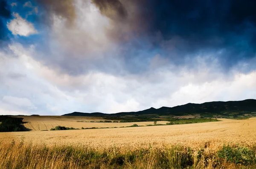
MULTIPOLYGON (((88 145, 95 148, 114 145, 117 147, 123 147, 124 149, 147 147, 149 144, 156 147, 180 144, 198 148, 200 146, 204 146, 205 143, 209 143, 213 147, 218 148, 218 146, 227 142, 246 145, 253 145, 256 143, 256 118, 250 118, 248 120, 220 120, 222 121, 170 126, 9 132, 1 133, 0 141, 4 143, 11 142, 12 139, 20 140, 22 138, 24 141, 32 142, 34 144, 44 143, 47 145, 65 145, 69 143, 73 145, 88 145)), ((96 123, 93 123, 93 125, 95 124, 96 123)), ((116 124, 124 125, 126 123, 116 124)))

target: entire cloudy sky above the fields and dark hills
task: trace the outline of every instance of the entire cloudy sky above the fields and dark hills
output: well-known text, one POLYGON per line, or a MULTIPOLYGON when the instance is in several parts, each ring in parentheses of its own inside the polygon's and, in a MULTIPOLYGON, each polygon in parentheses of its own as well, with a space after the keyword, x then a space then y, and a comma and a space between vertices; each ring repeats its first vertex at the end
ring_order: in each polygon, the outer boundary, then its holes
POLYGON ((0 115, 256 99, 255 0, 0 0, 0 115))

